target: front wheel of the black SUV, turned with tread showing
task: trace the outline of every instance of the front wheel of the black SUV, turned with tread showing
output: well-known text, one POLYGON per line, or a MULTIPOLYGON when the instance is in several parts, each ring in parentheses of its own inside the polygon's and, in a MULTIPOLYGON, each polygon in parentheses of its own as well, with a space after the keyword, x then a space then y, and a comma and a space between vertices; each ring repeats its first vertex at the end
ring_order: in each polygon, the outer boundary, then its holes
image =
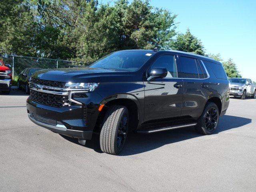
POLYGON ((126 141, 129 113, 124 106, 110 106, 100 131, 100 149, 108 154, 119 154, 126 141))

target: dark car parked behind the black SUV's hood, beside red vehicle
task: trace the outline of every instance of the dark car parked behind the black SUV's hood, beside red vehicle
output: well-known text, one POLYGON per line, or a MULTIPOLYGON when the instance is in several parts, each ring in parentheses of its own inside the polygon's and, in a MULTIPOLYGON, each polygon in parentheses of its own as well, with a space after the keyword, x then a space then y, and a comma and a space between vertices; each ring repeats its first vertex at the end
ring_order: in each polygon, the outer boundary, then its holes
POLYGON ((31 75, 38 71, 42 70, 41 68, 26 68, 18 75, 17 87, 19 90, 24 89, 26 94, 30 93, 28 82, 31 79, 31 75))

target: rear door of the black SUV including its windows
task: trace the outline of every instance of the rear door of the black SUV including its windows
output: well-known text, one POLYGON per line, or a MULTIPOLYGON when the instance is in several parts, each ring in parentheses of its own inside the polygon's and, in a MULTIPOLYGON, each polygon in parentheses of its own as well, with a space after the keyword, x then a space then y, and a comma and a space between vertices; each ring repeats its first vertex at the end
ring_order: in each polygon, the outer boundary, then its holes
POLYGON ((183 78, 184 82, 181 115, 197 118, 202 114, 206 98, 209 96, 209 79, 197 58, 179 54, 178 60, 178 76, 183 78))

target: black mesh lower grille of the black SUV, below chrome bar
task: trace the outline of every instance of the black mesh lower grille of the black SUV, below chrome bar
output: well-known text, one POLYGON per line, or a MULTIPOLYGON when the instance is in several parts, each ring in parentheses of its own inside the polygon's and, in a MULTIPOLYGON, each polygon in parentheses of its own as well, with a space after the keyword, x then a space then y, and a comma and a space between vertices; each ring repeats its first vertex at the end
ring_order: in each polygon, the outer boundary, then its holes
POLYGON ((34 102, 52 107, 63 107, 70 104, 68 96, 49 94, 35 90, 30 90, 30 98, 34 102))

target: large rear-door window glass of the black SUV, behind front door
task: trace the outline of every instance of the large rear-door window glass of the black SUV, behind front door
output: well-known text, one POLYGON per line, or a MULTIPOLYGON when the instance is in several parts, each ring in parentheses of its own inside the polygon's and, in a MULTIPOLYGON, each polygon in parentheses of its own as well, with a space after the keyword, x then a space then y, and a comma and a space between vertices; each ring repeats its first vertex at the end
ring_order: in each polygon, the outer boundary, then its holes
POLYGON ((178 76, 180 78, 199 78, 196 60, 194 58, 180 56, 179 61, 181 64, 181 72, 178 73, 178 76))

